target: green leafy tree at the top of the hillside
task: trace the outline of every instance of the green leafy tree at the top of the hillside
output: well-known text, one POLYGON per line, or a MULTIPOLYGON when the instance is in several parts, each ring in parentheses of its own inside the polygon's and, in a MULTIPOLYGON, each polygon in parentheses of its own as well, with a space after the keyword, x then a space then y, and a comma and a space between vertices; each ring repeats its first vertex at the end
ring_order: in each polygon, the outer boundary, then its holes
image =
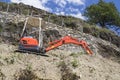
POLYGON ((120 26, 120 13, 113 2, 106 3, 99 0, 97 4, 87 7, 84 15, 88 18, 88 22, 99 24, 102 27, 106 27, 106 25, 120 26))

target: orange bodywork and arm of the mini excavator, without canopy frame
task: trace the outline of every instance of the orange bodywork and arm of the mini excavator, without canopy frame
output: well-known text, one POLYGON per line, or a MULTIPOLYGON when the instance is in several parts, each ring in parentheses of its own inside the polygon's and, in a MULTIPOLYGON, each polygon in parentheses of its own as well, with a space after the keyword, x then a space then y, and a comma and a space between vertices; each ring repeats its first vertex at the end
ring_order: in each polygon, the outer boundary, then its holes
POLYGON ((47 48, 45 48, 45 50, 39 50, 39 43, 37 41, 37 39, 35 38, 32 38, 32 37, 23 37, 20 39, 20 49, 21 50, 28 50, 28 51, 36 51, 36 52, 48 52, 54 48, 57 48, 63 44, 75 44, 75 45, 79 45, 79 46, 82 46, 86 52, 90 55, 93 54, 93 52, 90 50, 90 48, 88 47, 86 41, 84 40, 78 40, 76 38, 72 38, 71 36, 65 36, 63 37, 62 39, 60 40, 56 40, 56 41, 53 41, 53 42, 50 42, 49 45, 47 48))

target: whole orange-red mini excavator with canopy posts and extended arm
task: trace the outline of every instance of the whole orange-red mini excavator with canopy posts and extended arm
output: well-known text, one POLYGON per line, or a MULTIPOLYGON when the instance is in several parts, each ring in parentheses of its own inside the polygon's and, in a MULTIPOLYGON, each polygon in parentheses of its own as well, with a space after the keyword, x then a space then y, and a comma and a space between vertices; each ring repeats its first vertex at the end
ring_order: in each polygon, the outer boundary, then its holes
MULTIPOLYGON (((28 18, 26 19, 25 25, 27 23, 28 18)), ((39 24, 41 25, 41 19, 39 19, 40 22, 39 24)), ((20 39, 20 44, 19 44, 19 50, 22 52, 35 52, 35 53, 46 53, 54 48, 57 48, 63 44, 75 44, 78 46, 82 46, 85 51, 89 54, 92 55, 93 52, 89 49, 86 41, 84 40, 78 40, 76 38, 72 38, 71 36, 65 36, 61 38, 60 40, 55 40, 53 42, 49 43, 49 46, 47 48, 43 48, 42 46, 42 37, 40 36, 41 34, 41 26, 39 26, 39 40, 36 38, 33 38, 31 36, 23 36, 25 27, 23 28, 23 32, 21 34, 21 39, 20 39)))

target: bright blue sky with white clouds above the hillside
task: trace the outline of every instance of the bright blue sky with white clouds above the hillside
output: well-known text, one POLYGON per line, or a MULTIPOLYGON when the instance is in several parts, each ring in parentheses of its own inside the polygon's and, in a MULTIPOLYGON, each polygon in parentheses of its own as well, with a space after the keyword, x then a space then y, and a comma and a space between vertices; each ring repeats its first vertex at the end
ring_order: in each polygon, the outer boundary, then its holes
MULTIPOLYGON (((70 15, 85 20, 82 15, 86 7, 98 3, 99 0, 0 0, 8 3, 24 3, 58 15, 70 15)), ((104 0, 113 2, 120 12, 120 0, 104 0)), ((119 30, 120 32, 120 30, 119 30)))

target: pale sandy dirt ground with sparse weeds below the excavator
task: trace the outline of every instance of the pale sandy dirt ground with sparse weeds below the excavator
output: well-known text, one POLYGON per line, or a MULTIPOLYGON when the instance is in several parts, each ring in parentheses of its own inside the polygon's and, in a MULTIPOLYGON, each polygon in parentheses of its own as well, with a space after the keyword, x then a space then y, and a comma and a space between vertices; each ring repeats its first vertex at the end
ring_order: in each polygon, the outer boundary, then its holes
POLYGON ((89 56, 81 51, 56 49, 45 57, 14 53, 15 49, 13 45, 0 44, 0 80, 120 79, 120 64, 98 53, 89 56))

